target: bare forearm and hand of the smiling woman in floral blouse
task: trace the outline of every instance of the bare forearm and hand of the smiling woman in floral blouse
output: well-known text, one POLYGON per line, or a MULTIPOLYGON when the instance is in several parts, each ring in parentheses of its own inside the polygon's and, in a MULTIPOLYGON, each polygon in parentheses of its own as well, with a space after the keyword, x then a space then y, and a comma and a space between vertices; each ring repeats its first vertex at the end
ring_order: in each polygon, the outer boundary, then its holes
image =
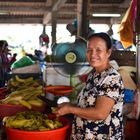
POLYGON ((112 110, 114 103, 115 100, 107 96, 100 96, 97 98, 95 107, 80 108, 69 103, 64 103, 60 105, 56 114, 57 116, 61 116, 72 113, 84 119, 104 120, 112 110))

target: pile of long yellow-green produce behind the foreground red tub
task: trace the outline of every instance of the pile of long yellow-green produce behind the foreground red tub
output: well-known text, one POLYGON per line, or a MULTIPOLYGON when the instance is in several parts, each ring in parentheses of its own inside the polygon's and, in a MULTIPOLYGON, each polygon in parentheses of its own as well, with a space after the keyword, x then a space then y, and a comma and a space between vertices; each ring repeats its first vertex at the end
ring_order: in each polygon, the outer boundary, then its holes
POLYGON ((16 75, 9 80, 7 88, 10 93, 6 98, 0 100, 1 104, 23 105, 28 109, 31 109, 32 106, 43 105, 43 101, 37 97, 44 94, 38 79, 34 80, 33 77, 22 79, 16 75))

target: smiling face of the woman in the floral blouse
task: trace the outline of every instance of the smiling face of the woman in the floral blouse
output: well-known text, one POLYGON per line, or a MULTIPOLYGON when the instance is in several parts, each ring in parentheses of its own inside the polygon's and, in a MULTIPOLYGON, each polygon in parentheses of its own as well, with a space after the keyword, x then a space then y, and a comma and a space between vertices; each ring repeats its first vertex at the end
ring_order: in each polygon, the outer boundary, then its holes
POLYGON ((106 66, 108 58, 111 55, 111 49, 107 49, 106 42, 100 37, 93 37, 87 44, 87 61, 96 68, 106 66))

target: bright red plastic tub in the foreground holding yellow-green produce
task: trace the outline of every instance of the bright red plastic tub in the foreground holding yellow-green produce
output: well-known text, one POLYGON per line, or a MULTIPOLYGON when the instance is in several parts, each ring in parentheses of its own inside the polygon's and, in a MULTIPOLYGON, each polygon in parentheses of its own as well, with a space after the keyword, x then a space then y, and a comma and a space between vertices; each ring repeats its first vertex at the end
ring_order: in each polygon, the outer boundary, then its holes
POLYGON ((55 130, 23 131, 5 128, 7 140, 65 140, 70 123, 69 120, 64 117, 60 117, 59 121, 62 122, 64 126, 55 130))

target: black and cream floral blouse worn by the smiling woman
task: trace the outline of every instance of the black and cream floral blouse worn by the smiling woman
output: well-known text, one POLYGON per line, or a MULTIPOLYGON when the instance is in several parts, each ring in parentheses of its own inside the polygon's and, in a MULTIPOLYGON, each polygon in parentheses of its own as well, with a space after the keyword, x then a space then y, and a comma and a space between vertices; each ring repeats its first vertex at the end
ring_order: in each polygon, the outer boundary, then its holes
POLYGON ((79 107, 94 107, 97 97, 106 96, 115 100, 115 104, 105 120, 87 120, 74 116, 72 140, 122 140, 123 139, 123 83, 120 74, 109 68, 100 74, 93 70, 86 86, 79 93, 79 107))

